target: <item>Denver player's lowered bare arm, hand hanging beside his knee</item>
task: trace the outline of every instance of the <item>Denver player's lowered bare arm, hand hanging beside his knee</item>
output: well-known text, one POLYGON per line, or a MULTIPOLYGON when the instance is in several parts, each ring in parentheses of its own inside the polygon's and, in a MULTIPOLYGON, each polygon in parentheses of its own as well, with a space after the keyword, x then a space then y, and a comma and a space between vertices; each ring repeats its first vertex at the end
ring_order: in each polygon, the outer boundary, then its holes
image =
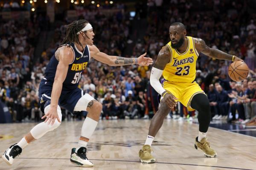
POLYGON ((73 62, 74 53, 70 47, 62 46, 56 50, 55 58, 59 63, 52 86, 51 106, 49 111, 42 117, 42 119, 46 118, 44 122, 50 119, 48 124, 51 123, 51 125, 53 125, 56 118, 61 122, 57 113, 58 99, 61 95, 62 84, 67 76, 68 66, 73 62))

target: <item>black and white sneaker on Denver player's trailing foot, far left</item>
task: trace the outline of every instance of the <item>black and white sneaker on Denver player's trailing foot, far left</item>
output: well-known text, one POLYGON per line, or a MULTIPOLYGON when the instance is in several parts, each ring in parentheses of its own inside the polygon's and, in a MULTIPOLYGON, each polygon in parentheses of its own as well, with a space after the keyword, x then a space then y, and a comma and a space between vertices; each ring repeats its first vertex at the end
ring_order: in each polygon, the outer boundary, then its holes
POLYGON ((12 165, 14 158, 17 155, 20 155, 21 152, 22 152, 21 147, 19 147, 17 144, 14 144, 4 152, 4 154, 2 155, 2 158, 6 162, 6 164, 12 165))

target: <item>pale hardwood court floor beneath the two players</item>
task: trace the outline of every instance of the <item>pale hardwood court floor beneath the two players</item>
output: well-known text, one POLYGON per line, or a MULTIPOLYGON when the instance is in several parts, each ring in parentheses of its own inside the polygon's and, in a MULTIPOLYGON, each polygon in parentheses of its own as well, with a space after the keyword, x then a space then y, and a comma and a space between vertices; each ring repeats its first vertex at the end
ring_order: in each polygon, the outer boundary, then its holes
MULTIPOLYGON (((62 122, 56 130, 33 142, 8 166, 0 170, 256 170, 256 138, 210 127, 208 138, 217 158, 206 158, 194 148, 198 125, 165 120, 153 143, 155 164, 139 162, 138 151, 148 133, 149 120, 99 121, 87 145, 92 168, 69 161, 77 146, 82 121, 62 122)), ((0 153, 17 143, 35 123, 0 124, 0 153), (12 137, 13 136, 13 137, 12 137)))

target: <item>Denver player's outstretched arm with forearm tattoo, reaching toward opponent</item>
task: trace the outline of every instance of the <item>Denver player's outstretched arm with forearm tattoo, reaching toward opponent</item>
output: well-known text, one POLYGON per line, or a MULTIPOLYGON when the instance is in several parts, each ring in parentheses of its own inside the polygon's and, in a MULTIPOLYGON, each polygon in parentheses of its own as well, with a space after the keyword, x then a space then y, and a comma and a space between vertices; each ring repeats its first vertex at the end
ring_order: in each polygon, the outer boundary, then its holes
POLYGON ((138 58, 124 58, 119 56, 107 55, 104 52, 100 52, 96 46, 89 46, 90 55, 97 61, 108 64, 110 66, 124 66, 131 64, 139 64, 141 66, 149 66, 153 63, 152 58, 145 57, 146 53, 140 55, 138 58))

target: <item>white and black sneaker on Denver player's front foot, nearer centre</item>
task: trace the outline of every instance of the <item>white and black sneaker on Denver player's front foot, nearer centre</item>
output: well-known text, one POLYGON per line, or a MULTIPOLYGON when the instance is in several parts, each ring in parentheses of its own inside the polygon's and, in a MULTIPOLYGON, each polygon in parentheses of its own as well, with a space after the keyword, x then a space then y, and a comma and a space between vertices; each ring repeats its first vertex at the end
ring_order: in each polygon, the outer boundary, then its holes
POLYGON ((79 150, 72 148, 70 161, 72 164, 77 164, 81 167, 93 167, 93 163, 86 157, 86 147, 80 147, 79 150))

